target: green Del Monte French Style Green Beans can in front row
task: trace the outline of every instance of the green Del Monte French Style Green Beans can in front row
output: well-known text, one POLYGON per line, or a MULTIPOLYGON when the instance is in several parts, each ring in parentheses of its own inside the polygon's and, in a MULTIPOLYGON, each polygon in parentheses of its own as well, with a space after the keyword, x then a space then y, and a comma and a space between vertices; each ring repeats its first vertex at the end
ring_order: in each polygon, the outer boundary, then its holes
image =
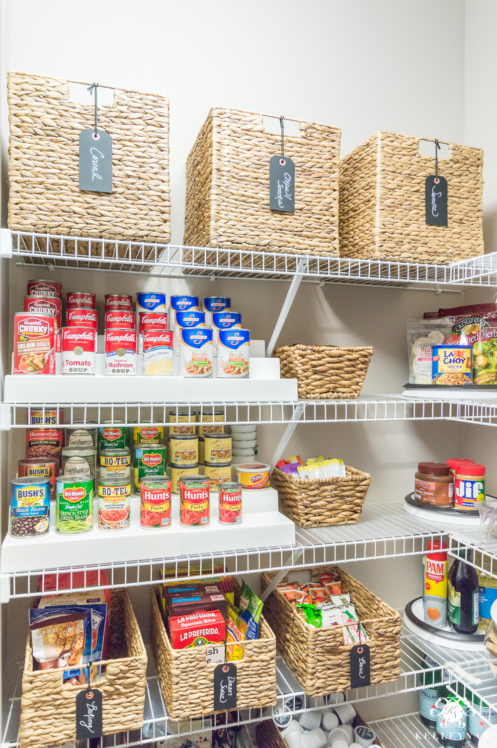
POLYGON ((90 476, 58 476, 55 532, 63 535, 89 533, 93 528, 93 479, 90 476))

